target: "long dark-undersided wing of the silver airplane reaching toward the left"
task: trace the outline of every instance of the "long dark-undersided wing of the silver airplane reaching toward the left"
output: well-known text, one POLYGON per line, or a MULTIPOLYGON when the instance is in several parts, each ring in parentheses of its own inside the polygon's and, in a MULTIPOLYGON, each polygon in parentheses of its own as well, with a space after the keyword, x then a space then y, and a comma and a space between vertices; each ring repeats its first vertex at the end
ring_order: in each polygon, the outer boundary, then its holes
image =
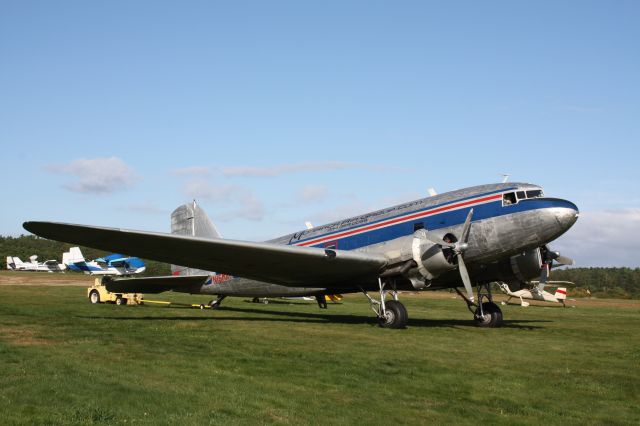
POLYGON ((345 287, 375 279, 381 254, 204 239, 55 222, 25 222, 36 235, 290 287, 345 287))

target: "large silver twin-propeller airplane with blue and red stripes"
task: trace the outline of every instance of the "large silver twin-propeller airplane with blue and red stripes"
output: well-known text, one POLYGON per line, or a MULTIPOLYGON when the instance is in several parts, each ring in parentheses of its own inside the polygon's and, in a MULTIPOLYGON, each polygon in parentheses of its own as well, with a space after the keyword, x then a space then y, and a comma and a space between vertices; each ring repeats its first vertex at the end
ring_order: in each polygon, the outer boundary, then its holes
MULTIPOLYGON (((177 215, 183 216, 178 228, 189 223, 186 207, 177 215)), ((544 256, 554 253, 547 244, 571 228, 578 215, 575 204, 547 197, 537 185, 501 183, 434 195, 266 242, 222 239, 212 224, 208 237, 194 236, 199 235, 193 229, 196 220, 191 231, 183 232, 187 235, 54 222, 23 226, 44 238, 201 271, 108 281, 113 292, 211 294, 218 296, 212 307, 226 296, 316 296, 320 304, 326 294, 362 292, 382 327, 403 328, 408 315, 398 291, 454 288, 477 325, 496 327, 502 312, 490 283, 537 277, 548 261, 544 256), (369 294, 373 291, 379 299, 369 294), (386 300, 388 294, 392 300, 386 300)))

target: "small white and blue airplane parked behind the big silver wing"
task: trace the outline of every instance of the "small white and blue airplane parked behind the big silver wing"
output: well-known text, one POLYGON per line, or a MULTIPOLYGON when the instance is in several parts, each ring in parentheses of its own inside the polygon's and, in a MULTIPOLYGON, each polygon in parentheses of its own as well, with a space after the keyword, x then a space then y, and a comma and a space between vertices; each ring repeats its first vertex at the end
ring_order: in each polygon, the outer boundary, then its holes
POLYGON ((146 269, 142 260, 121 254, 110 254, 87 262, 80 247, 71 247, 62 255, 62 261, 70 271, 84 272, 89 275, 134 275, 146 269))

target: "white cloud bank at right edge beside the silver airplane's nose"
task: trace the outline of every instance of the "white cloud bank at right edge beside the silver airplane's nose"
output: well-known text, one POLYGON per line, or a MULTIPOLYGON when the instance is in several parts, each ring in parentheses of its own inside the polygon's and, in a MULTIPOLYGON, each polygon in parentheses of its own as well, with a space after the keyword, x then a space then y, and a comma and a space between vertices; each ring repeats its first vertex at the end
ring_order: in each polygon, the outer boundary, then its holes
POLYGON ((581 212, 551 247, 573 258, 576 267, 639 267, 640 208, 581 212))

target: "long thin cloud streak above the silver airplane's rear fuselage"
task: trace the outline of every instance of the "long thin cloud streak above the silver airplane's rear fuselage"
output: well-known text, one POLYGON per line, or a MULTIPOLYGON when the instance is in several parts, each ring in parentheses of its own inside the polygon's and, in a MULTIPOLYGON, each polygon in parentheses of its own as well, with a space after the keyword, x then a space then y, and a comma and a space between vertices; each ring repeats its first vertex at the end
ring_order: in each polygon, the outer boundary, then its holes
POLYGON ((366 169, 373 171, 390 170, 390 168, 386 166, 347 163, 344 161, 324 161, 281 164, 268 167, 223 167, 221 171, 225 176, 276 177, 287 173, 327 172, 347 169, 366 169))

